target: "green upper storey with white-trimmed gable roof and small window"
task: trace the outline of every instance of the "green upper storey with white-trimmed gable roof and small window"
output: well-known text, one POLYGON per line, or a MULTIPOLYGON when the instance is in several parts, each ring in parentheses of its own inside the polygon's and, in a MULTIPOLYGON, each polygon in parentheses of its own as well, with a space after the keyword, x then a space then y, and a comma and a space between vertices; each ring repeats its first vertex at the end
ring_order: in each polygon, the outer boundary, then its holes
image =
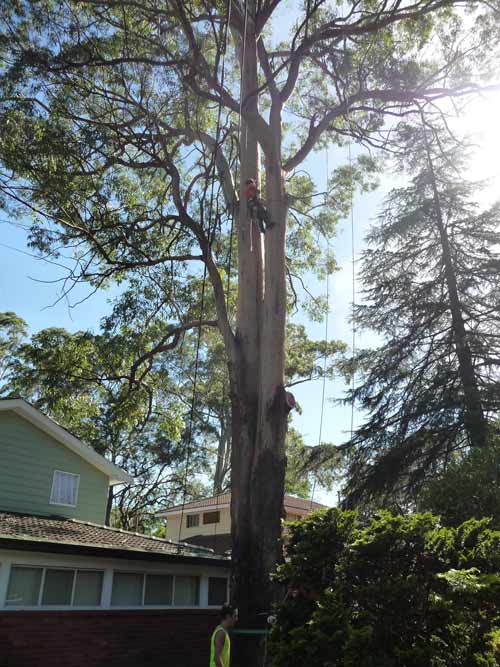
POLYGON ((22 399, 0 400, 0 511, 103 524, 121 468, 22 399))

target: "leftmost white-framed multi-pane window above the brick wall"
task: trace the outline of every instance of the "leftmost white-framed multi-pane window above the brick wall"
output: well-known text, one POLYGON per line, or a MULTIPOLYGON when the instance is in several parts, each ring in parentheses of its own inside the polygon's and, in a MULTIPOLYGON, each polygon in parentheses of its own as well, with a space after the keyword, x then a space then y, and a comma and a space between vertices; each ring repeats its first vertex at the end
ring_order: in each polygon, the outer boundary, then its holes
POLYGON ((99 607, 103 572, 13 566, 6 606, 99 607))

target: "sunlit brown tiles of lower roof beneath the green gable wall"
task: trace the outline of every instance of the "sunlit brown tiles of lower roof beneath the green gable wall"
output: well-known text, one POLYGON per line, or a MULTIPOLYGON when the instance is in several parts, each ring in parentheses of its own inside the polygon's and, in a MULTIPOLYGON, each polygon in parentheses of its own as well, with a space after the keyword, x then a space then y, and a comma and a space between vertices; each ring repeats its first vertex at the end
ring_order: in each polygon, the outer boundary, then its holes
POLYGON ((58 519, 0 512, 0 545, 2 541, 19 540, 51 545, 92 547, 105 550, 129 552, 134 557, 140 553, 165 556, 181 556, 220 560, 212 549, 192 544, 177 543, 157 537, 129 533, 118 528, 99 526, 76 519, 58 519))

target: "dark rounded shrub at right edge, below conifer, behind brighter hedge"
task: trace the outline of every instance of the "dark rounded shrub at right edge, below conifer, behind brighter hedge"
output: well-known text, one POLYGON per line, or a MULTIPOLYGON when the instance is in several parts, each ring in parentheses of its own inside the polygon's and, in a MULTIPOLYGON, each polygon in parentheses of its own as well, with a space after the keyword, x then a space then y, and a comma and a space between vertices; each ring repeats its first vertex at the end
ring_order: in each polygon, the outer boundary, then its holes
POLYGON ((489 517, 500 529, 500 439, 452 460, 424 486, 419 507, 440 515, 446 525, 489 517))

